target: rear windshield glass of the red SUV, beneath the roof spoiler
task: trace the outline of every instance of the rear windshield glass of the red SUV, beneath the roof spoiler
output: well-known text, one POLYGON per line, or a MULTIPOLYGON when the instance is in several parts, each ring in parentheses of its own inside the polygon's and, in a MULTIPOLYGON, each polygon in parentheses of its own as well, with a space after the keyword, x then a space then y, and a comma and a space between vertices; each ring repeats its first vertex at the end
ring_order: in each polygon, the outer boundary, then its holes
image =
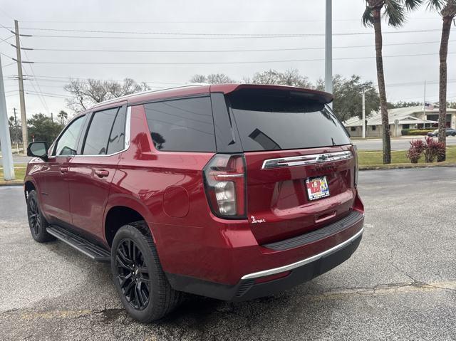
POLYGON ((310 96, 289 90, 247 89, 227 95, 244 151, 351 143, 331 110, 310 96))

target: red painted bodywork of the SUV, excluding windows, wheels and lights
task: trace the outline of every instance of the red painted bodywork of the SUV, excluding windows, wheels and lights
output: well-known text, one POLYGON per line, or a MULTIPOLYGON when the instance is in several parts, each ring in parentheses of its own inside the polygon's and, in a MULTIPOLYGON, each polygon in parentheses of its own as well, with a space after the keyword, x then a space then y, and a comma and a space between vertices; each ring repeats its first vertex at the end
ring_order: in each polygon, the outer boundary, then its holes
POLYGON ((225 285, 236 285, 249 273, 322 253, 361 231, 363 220, 337 234, 285 251, 263 246, 317 230, 351 211, 363 213, 355 184, 354 157, 328 164, 267 170, 261 169, 264 160, 328 152, 354 153, 352 145, 244 152, 247 172, 244 219, 219 218, 209 207, 203 169, 215 152, 155 149, 144 103, 191 95, 228 94, 242 88, 292 89, 319 96, 325 102, 332 99, 329 94, 301 88, 212 85, 113 100, 86 113, 123 104, 131 107, 127 150, 110 157, 51 157, 48 162, 32 159, 25 181, 38 189, 48 221, 73 226, 108 249, 105 224, 110 209, 125 206, 137 211, 147 221, 165 273, 225 285), (303 180, 316 176, 327 177, 331 196, 309 201, 303 180))

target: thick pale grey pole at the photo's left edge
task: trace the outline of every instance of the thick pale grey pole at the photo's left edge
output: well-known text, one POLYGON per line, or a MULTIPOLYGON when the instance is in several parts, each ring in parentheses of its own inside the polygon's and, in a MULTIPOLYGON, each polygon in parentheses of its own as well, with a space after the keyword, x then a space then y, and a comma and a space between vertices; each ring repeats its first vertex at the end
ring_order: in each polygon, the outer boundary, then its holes
POLYGON ((5 180, 14 180, 13 153, 11 152, 11 138, 9 137, 8 112, 6 112, 5 88, 0 58, 0 145, 3 176, 5 180))

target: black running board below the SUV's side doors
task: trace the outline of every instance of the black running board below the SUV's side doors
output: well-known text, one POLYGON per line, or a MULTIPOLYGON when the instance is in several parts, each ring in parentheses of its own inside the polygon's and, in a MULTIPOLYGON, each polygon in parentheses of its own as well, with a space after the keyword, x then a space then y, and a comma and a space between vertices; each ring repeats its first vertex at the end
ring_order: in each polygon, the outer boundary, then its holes
POLYGON ((94 243, 88 241, 86 238, 73 234, 66 229, 62 229, 60 226, 48 226, 46 228, 48 234, 60 239, 67 243, 69 246, 73 246, 76 250, 81 251, 86 256, 89 256, 94 261, 98 262, 110 262, 110 252, 105 248, 102 248, 94 243))

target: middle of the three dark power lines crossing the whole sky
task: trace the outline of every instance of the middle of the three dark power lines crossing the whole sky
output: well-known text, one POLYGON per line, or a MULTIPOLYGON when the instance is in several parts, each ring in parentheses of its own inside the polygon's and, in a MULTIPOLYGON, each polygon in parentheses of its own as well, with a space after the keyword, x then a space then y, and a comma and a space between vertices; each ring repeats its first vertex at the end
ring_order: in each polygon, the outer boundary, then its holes
MULTIPOLYGON (((456 41, 456 40, 455 40, 456 41)), ((450 42, 455 42, 450 41, 450 42)), ((403 46, 418 45, 428 43, 440 43, 440 41, 419 41, 414 43, 388 43, 383 46, 403 46)), ((375 45, 356 45, 356 46, 333 46, 333 48, 372 48, 375 45)), ((271 52, 271 51, 305 51, 305 50, 324 50, 323 47, 306 47, 306 48, 260 48, 260 49, 242 49, 242 50, 103 50, 103 49, 86 49, 86 48, 33 48, 33 51, 68 51, 68 52, 121 52, 121 53, 229 53, 229 52, 271 52)))

